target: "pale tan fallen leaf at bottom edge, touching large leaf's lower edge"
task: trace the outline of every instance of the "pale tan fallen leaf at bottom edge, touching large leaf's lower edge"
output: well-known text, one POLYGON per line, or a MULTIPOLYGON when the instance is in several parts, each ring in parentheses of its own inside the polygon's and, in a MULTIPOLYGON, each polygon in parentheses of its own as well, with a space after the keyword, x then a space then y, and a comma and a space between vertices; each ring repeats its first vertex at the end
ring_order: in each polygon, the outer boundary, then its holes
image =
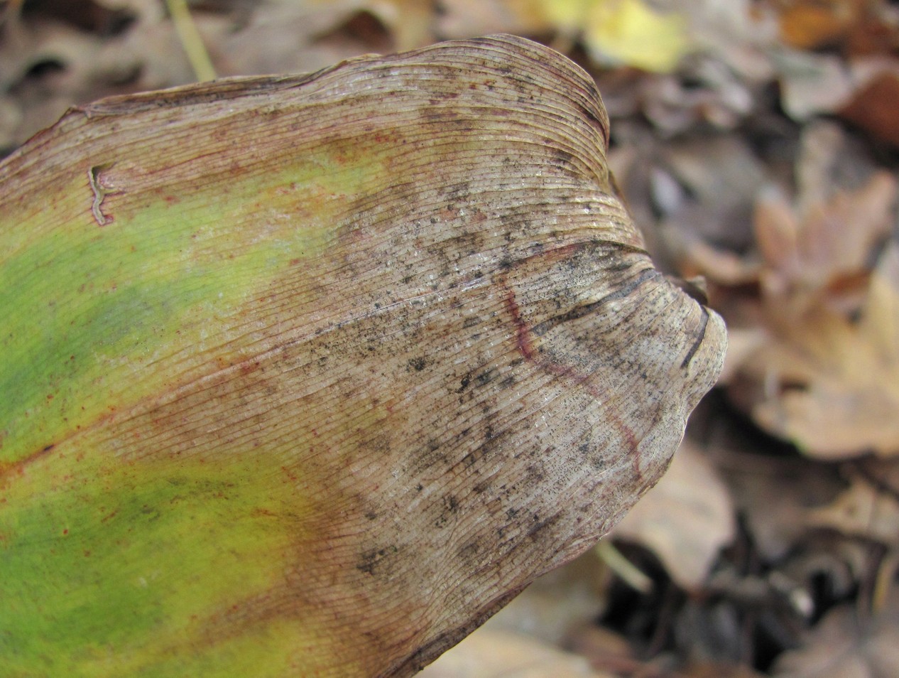
POLYGON ((420 678, 614 678, 537 638, 478 629, 427 666, 420 678))

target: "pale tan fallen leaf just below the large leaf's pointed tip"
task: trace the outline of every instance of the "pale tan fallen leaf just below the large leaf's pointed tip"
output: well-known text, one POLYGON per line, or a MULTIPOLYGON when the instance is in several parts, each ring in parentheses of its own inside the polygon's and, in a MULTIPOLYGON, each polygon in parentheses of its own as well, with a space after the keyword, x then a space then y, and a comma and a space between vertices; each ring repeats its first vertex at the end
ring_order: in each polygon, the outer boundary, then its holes
POLYGON ((677 584, 695 590, 734 531, 727 487, 702 452, 682 442, 665 476, 611 536, 652 550, 677 584))

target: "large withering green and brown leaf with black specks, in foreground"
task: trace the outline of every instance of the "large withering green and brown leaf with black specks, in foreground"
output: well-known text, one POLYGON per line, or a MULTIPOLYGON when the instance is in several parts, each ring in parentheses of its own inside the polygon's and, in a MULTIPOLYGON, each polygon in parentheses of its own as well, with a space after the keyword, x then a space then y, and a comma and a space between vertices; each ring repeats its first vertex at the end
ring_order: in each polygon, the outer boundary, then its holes
POLYGON ((663 473, 720 318, 527 40, 70 112, 0 165, 13 673, 411 674, 663 473))

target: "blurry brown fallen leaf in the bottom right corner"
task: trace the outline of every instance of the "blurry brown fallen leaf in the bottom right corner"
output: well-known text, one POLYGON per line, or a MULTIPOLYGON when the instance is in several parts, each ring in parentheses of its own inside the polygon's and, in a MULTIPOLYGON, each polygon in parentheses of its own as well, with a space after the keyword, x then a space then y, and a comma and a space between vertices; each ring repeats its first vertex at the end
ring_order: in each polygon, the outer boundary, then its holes
POLYGON ((899 595, 883 611, 859 616, 850 605, 830 611, 796 650, 779 657, 777 678, 895 678, 899 667, 899 595))

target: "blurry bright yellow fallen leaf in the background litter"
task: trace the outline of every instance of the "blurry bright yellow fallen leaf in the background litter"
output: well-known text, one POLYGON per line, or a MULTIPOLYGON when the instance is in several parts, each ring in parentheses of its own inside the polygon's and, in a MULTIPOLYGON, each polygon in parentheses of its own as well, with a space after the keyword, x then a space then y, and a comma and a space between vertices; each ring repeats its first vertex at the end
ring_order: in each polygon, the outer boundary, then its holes
POLYGON ((581 31, 593 59, 667 72, 689 51, 687 22, 645 0, 543 0, 561 31, 581 31))

